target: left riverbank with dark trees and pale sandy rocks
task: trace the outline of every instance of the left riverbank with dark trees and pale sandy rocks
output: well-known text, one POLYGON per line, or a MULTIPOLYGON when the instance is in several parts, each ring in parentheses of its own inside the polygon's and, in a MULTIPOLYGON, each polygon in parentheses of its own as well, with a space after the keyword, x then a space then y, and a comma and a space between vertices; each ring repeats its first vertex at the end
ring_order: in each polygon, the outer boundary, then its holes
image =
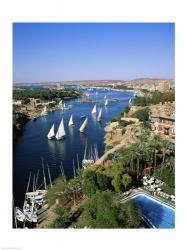
POLYGON ((48 112, 60 110, 59 101, 79 98, 83 95, 74 90, 20 90, 13 91, 13 138, 21 135, 25 124, 29 120, 36 120, 42 116, 42 110, 48 112))

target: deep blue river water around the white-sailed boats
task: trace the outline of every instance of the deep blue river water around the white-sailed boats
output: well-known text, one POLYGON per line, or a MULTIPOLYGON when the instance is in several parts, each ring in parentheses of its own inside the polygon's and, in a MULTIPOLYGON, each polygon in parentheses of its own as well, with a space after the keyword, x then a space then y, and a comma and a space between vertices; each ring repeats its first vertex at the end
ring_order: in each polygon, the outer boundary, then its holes
MULTIPOLYGON (((88 91, 90 98, 96 100, 97 109, 103 108, 102 123, 91 114, 95 103, 82 103, 80 99, 66 101, 66 105, 72 105, 70 110, 48 112, 46 117, 38 118, 36 121, 29 121, 24 128, 23 134, 13 145, 13 196, 16 206, 22 207, 24 194, 27 188, 29 173, 32 176, 40 170, 38 186, 42 184, 42 163, 48 164, 52 180, 60 175, 60 164, 63 163, 65 174, 68 178, 73 177, 72 161, 75 160, 77 168, 77 154, 81 163, 84 155, 85 144, 87 141, 88 148, 92 144, 97 144, 99 156, 104 152, 104 127, 113 117, 124 111, 128 105, 129 99, 133 96, 132 92, 119 92, 115 90, 95 89, 88 91), (107 108, 104 107, 104 96, 109 99, 107 108), (117 98, 118 102, 110 102, 111 99, 117 98), (75 126, 68 127, 70 115, 73 115, 75 126), (84 121, 80 117, 88 116, 88 124, 85 133, 80 133, 79 128, 84 121), (48 140, 46 135, 55 123, 55 132, 58 125, 64 118, 66 137, 63 140, 48 140)), ((98 112, 97 112, 98 113, 98 112)), ((46 170, 46 179, 49 183, 46 170)), ((32 178, 30 183, 32 190, 32 178)))

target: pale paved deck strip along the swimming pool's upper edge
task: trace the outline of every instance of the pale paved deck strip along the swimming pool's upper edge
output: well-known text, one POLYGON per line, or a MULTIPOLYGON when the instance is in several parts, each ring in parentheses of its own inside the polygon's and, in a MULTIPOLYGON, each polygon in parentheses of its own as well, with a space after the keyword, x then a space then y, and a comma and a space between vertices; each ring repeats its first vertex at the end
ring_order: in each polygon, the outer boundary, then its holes
POLYGON ((124 194, 124 198, 123 201, 126 201, 128 199, 133 198, 134 196, 136 196, 137 194, 144 194, 149 196, 150 198, 157 200, 159 203, 164 204, 172 209, 175 209, 175 206, 169 202, 166 202, 162 199, 160 199, 160 197, 156 196, 156 195, 151 195, 149 192, 146 192, 145 190, 143 190, 142 188, 137 188, 137 189, 132 189, 131 193, 128 196, 125 196, 124 194))

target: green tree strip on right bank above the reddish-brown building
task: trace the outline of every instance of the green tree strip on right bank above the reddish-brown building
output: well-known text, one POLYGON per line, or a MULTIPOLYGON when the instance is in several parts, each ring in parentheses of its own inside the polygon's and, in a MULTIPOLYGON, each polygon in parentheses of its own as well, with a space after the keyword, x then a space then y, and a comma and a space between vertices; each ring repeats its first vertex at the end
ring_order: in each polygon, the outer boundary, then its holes
POLYGON ((134 105, 136 106, 149 106, 151 104, 159 104, 164 102, 173 102, 175 101, 175 92, 174 90, 170 90, 168 92, 159 92, 155 91, 153 93, 149 93, 149 95, 145 95, 143 97, 136 97, 134 100, 134 105))

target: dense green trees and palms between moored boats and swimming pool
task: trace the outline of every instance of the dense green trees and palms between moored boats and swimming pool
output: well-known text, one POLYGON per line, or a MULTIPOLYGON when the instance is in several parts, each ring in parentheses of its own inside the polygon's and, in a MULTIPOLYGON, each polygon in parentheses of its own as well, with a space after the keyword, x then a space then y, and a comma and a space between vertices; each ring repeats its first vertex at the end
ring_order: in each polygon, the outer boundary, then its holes
POLYGON ((49 204, 58 199, 55 228, 138 228, 140 211, 133 202, 120 203, 125 190, 142 185, 144 175, 164 182, 163 190, 174 194, 174 145, 145 133, 137 143, 110 155, 107 166, 81 170, 76 178, 59 178, 48 190, 49 204))

